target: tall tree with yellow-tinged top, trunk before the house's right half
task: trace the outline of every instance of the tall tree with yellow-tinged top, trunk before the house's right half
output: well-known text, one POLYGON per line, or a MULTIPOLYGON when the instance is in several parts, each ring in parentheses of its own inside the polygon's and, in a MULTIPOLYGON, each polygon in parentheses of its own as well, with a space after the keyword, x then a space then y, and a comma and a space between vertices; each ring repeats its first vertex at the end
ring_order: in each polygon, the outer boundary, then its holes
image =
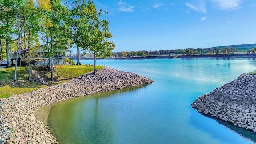
POLYGON ((42 15, 42 38, 46 41, 43 49, 48 50, 49 70, 53 80, 53 54, 71 44, 70 29, 67 24, 68 9, 60 4, 61 0, 38 0, 42 15))

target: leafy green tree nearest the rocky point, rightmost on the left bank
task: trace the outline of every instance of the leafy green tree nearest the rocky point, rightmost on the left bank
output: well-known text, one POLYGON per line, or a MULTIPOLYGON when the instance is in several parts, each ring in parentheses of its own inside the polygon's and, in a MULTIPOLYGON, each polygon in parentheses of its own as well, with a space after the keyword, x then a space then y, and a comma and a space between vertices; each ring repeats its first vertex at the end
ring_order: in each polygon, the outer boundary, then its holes
POLYGON ((83 50, 92 53, 94 55, 94 72, 96 74, 96 56, 106 58, 112 56, 112 50, 115 44, 112 41, 108 41, 108 38, 112 38, 112 34, 109 32, 107 20, 100 20, 102 14, 107 14, 102 9, 96 10, 92 1, 88 1, 88 5, 84 9, 86 16, 88 17, 87 34, 83 36, 84 48, 83 50))

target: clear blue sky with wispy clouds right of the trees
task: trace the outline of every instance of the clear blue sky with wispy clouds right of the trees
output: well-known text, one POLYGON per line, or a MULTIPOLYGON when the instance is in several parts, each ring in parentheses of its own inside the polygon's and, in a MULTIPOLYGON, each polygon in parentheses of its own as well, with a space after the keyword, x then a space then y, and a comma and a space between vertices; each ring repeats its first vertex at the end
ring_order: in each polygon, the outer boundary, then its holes
POLYGON ((92 0, 116 51, 256 43, 255 0, 92 0))

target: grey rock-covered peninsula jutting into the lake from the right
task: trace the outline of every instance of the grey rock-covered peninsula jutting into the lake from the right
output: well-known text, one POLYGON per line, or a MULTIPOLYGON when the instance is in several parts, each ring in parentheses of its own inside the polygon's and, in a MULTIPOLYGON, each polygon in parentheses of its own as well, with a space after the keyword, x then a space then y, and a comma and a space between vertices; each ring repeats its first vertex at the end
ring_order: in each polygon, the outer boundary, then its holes
POLYGON ((191 105, 200 113, 255 133, 256 75, 241 74, 237 79, 198 97, 191 105))

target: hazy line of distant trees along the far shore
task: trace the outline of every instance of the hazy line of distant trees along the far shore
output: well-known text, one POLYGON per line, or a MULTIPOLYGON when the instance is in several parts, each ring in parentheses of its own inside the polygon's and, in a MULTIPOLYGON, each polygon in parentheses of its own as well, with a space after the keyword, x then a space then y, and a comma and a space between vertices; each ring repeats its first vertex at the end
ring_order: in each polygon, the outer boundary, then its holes
POLYGON ((155 51, 137 51, 137 52, 113 52, 115 57, 136 57, 136 56, 159 56, 159 55, 174 55, 174 54, 234 54, 234 52, 256 52, 256 44, 242 44, 232 46, 219 46, 213 48, 187 48, 187 49, 176 49, 176 50, 155 50, 155 51))

